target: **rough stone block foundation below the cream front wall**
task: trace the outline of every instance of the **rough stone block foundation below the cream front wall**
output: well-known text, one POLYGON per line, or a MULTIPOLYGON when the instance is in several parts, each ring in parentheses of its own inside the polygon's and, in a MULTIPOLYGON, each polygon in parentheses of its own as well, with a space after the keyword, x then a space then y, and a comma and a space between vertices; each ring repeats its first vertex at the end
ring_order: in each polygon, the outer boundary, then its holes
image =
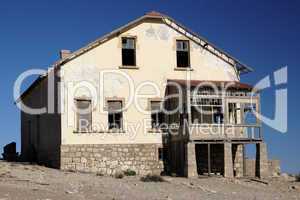
POLYGON ((60 168, 104 175, 126 169, 139 175, 160 174, 163 170, 158 155, 160 147, 160 144, 62 145, 60 168))

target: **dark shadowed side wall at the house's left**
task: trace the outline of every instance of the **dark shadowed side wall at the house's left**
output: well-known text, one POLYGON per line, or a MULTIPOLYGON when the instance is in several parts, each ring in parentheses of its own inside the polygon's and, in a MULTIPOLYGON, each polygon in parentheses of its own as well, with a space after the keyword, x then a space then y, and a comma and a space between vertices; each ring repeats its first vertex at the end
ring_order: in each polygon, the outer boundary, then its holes
MULTIPOLYGON (((58 80, 55 79, 55 84, 58 80)), ((57 102, 57 90, 54 91, 57 102)), ((28 95, 23 103, 30 108, 47 108, 48 79, 42 80, 28 95)), ((29 114, 21 111, 21 159, 49 167, 60 166, 61 120, 54 104, 55 113, 29 114)))

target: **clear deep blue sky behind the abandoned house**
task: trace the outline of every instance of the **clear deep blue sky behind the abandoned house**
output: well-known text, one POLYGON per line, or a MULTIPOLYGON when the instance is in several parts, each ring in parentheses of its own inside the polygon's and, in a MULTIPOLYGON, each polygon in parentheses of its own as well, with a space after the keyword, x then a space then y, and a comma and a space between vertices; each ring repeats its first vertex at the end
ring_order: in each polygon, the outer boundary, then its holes
MULTIPOLYGON (((300 3, 299 1, 2 1, 0 4, 0 148, 20 143, 20 113, 13 84, 30 68, 46 69, 60 49, 76 50, 144 13, 165 13, 226 50, 255 72, 242 76, 256 83, 288 66, 288 132, 264 126, 270 158, 283 171, 300 172, 300 3)), ((25 87, 25 86, 24 86, 25 87)), ((275 89, 262 94, 262 112, 274 115, 275 89)))

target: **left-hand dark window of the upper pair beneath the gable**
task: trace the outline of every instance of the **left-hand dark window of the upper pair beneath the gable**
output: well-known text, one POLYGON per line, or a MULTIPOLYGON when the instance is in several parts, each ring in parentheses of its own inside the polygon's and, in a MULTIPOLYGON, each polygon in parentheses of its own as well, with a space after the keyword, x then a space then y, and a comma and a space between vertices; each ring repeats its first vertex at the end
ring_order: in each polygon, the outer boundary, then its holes
POLYGON ((122 38, 122 65, 123 66, 135 66, 135 38, 122 38))

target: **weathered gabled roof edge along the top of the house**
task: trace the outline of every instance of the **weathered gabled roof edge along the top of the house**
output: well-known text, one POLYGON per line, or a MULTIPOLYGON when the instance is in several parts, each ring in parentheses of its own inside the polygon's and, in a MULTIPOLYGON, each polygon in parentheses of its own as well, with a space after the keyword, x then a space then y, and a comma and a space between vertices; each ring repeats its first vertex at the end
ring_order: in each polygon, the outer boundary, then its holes
MULTIPOLYGON (((113 38, 115 36, 118 36, 121 33, 129 30, 130 28, 144 22, 145 20, 149 20, 149 19, 150 20, 159 20, 159 21, 165 23, 166 25, 168 25, 169 27, 175 29, 179 33, 185 35, 187 38, 189 38, 190 40, 192 40, 195 43, 199 44, 204 49, 206 49, 207 51, 212 53, 213 55, 219 57, 220 59, 222 59, 225 62, 232 65, 234 67, 234 69, 236 71, 238 71, 240 74, 248 73, 248 72, 253 71, 250 67, 246 66, 245 64, 240 62, 238 59, 234 58, 233 56, 229 55, 225 51, 221 50, 220 48, 218 48, 214 44, 208 42, 206 39, 204 39, 203 37, 201 37, 198 34, 194 33, 193 31, 190 31, 188 28, 186 28, 182 24, 176 22, 171 17, 169 17, 167 15, 164 15, 164 14, 161 14, 161 13, 156 12, 156 11, 151 11, 149 13, 146 13, 142 17, 139 17, 136 20, 133 20, 133 21, 129 22, 128 24, 126 24, 126 25, 124 25, 124 26, 122 26, 122 27, 120 27, 120 28, 118 28, 118 29, 116 29, 116 30, 114 30, 114 31, 98 38, 98 39, 96 39, 95 41, 87 44, 83 48, 81 48, 77 51, 74 51, 73 53, 71 53, 66 58, 58 60, 52 66, 53 70, 56 70, 56 68, 58 68, 59 66, 64 65, 65 63, 67 63, 67 62, 77 58, 78 56, 94 49, 95 47, 101 45, 102 43, 104 43, 108 40, 110 40, 111 38, 113 38)), ((47 75, 46 76, 43 75, 43 76, 40 76, 37 80, 35 80, 34 83, 21 95, 20 98, 23 98, 26 94, 28 94, 30 90, 32 90, 36 85, 38 85, 46 77, 47 77, 47 75)))

